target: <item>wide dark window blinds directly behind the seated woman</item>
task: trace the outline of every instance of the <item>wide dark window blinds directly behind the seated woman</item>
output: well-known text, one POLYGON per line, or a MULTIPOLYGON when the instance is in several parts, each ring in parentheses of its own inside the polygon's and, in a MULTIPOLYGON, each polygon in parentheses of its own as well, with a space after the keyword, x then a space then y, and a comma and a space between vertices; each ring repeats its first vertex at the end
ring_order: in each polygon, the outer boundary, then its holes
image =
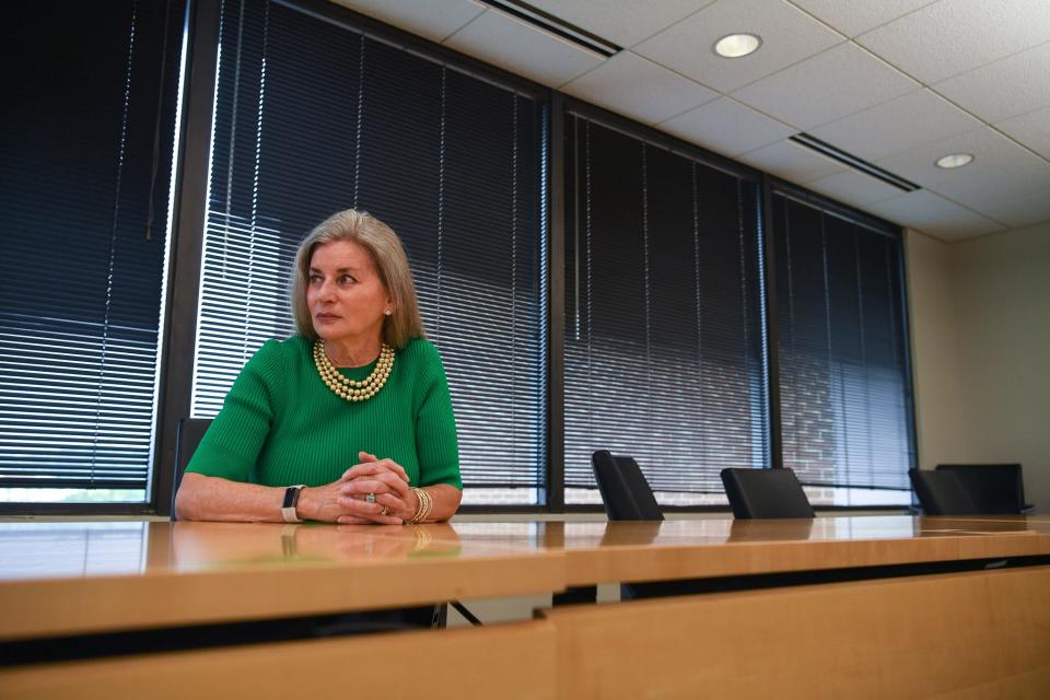
POLYGON ((303 236, 364 209, 408 250, 465 485, 475 498, 523 487, 502 498, 534 502, 544 105, 277 2, 223 3, 217 80, 192 415, 213 416, 250 354, 292 332, 287 281, 303 236))

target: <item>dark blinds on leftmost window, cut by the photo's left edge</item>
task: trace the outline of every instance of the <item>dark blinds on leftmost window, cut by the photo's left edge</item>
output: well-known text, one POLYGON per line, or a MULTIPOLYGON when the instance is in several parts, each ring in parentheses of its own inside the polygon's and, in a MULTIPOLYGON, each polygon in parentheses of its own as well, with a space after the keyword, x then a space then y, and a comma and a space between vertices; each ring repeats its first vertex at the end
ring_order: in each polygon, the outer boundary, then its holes
POLYGON ((147 486, 183 3, 9 3, 0 488, 147 486))

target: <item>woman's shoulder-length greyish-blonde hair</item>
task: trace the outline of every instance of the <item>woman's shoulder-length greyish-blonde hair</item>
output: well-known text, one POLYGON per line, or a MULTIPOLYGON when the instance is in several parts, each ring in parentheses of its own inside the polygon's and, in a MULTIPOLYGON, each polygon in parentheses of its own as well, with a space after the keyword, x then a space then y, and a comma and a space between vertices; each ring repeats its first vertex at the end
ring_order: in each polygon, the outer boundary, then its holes
POLYGON ((326 243, 351 241, 364 247, 372 257, 380 281, 393 306, 393 314, 383 318, 383 341, 400 350, 412 338, 425 338, 423 319, 419 315, 416 282, 408 267, 408 257, 401 240, 394 230, 366 211, 347 209, 322 221, 303 238, 295 254, 291 279, 292 315, 299 335, 317 339, 313 318, 306 306, 306 285, 314 249, 326 243))

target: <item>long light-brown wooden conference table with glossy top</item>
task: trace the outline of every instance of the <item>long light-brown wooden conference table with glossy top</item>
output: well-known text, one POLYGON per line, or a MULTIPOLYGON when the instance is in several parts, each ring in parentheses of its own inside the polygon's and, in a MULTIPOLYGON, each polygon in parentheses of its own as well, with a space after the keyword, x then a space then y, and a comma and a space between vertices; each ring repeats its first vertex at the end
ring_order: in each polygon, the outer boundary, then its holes
POLYGON ((0 651, 607 582, 759 582, 481 628, 7 665, 0 697, 1042 698, 1048 556, 1050 518, 1024 516, 0 523, 0 651))

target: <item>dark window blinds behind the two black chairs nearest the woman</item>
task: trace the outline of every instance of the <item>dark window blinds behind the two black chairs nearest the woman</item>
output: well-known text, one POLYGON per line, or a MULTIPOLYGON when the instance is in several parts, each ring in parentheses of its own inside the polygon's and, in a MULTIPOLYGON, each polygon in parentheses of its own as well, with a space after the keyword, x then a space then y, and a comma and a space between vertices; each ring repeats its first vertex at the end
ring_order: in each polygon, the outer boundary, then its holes
POLYGON ((723 467, 769 460, 757 186, 569 130, 565 500, 595 500, 595 450, 634 456, 663 503, 718 500, 723 467))

